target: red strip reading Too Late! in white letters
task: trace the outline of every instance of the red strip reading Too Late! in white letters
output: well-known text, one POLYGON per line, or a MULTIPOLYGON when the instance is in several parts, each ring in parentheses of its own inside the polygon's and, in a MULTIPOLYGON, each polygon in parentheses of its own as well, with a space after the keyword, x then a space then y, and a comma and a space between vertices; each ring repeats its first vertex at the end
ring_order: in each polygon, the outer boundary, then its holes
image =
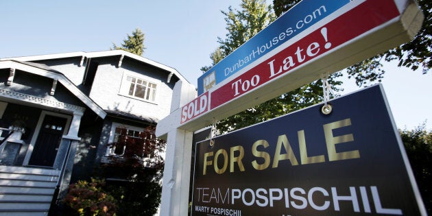
POLYGON ((308 64, 335 47, 348 43, 352 38, 398 15, 398 8, 392 0, 364 1, 295 43, 289 44, 274 56, 269 56, 265 61, 245 71, 232 81, 219 86, 211 93, 211 109, 248 93, 280 75, 290 73, 302 64, 308 64))

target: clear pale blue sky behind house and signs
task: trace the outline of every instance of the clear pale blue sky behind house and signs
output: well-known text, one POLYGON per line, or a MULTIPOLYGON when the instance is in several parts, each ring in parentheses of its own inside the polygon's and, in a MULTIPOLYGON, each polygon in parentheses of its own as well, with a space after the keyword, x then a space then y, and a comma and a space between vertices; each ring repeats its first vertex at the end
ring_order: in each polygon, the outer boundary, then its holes
MULTIPOLYGON (((75 0, 0 1, 0 58, 75 51, 106 51, 120 46, 127 34, 145 34, 143 57, 173 67, 196 86, 200 68, 211 64, 217 38, 225 38, 221 10, 240 0, 75 0)), ((272 1, 267 0, 267 3, 272 1)), ((385 64, 383 86, 400 129, 427 121, 432 130, 432 71, 385 64)), ((359 90, 344 79, 341 95, 359 90)))

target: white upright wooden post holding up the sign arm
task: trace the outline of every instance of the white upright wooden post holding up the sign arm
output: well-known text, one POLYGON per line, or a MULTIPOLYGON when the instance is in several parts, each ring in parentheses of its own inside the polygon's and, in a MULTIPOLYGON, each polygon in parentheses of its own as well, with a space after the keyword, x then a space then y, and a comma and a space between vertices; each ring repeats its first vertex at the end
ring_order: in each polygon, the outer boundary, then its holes
POLYGON ((171 114, 159 121, 156 136, 167 137, 160 215, 187 215, 193 132, 179 130, 180 108, 196 97, 195 86, 177 82, 171 114))

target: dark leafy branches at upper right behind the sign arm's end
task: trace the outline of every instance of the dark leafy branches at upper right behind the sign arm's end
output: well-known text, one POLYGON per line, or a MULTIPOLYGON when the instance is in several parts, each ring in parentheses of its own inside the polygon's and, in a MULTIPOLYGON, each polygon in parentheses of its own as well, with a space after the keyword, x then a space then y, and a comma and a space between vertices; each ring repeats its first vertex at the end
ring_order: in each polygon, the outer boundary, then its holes
MULTIPOLYGON (((383 60, 398 61, 399 67, 407 67, 416 71, 423 69, 427 73, 432 68, 432 3, 430 0, 417 0, 424 13, 424 22, 420 32, 409 43, 405 43, 363 60, 346 69, 348 77, 355 79, 357 86, 365 86, 368 82, 379 81, 384 77, 383 60)), ((274 11, 280 16, 300 0, 273 0, 274 11)))

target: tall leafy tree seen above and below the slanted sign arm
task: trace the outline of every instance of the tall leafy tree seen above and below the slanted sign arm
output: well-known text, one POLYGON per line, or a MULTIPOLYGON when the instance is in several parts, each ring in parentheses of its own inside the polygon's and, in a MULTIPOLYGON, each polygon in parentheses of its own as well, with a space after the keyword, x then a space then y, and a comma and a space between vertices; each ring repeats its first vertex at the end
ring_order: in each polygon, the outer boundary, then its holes
MULTIPOLYGON (((219 47, 211 53, 213 65, 228 56, 229 53, 260 32, 261 29, 267 27, 275 19, 272 8, 266 5, 265 0, 242 0, 240 7, 241 10, 229 7, 228 12, 222 11, 222 14, 226 16, 228 33, 225 39, 218 37, 219 47)), ((202 67, 202 71, 208 69, 211 69, 211 67, 202 67)), ((339 76, 339 73, 331 75, 329 83, 332 86, 341 84, 341 82, 335 80, 335 77, 339 76)), ((339 91, 339 88, 334 90, 339 91)), ((322 97, 322 81, 317 80, 280 97, 249 108, 237 115, 223 119, 217 123, 217 129, 220 132, 228 132, 244 128, 254 123, 284 115, 293 110, 311 106, 322 101, 322 97)))

